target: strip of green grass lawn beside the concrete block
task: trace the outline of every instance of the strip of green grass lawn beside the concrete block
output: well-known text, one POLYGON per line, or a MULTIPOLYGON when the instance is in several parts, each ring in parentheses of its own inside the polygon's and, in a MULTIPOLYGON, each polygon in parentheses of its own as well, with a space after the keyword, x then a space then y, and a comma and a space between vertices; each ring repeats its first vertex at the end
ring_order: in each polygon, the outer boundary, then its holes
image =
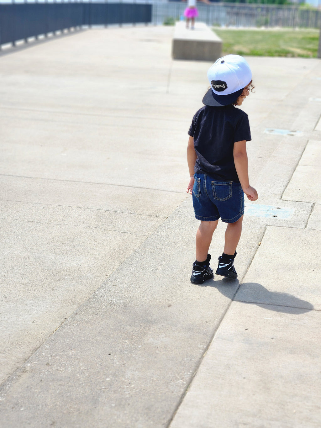
POLYGON ((319 30, 223 30, 214 28, 223 40, 223 55, 316 57, 319 30))

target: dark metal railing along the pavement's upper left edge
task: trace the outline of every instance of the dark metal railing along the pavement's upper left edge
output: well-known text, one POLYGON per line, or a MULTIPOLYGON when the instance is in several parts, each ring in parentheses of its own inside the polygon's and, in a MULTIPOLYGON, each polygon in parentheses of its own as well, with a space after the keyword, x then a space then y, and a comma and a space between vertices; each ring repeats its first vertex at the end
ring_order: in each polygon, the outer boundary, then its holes
POLYGON ((13 3, 0 4, 0 45, 70 28, 152 21, 151 4, 13 3))

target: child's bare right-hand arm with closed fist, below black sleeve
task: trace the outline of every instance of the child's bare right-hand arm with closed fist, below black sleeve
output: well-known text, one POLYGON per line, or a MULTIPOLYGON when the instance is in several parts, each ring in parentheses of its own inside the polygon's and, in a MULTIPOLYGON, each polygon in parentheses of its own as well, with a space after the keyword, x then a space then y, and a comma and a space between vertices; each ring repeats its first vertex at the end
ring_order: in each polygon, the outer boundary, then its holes
POLYGON ((238 179, 240 180, 242 189, 250 201, 256 201, 259 198, 254 187, 250 186, 249 173, 247 169, 247 148, 246 141, 238 141, 234 143, 233 157, 238 179))

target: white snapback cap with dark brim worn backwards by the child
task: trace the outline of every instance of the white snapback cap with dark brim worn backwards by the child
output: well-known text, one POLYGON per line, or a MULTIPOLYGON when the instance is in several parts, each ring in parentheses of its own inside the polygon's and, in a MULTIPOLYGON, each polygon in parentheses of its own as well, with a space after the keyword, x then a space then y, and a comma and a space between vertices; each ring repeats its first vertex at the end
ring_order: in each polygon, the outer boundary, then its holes
POLYGON ((203 104, 221 107, 233 104, 252 80, 250 65, 240 55, 226 55, 217 59, 208 69, 211 88, 203 98, 203 104))

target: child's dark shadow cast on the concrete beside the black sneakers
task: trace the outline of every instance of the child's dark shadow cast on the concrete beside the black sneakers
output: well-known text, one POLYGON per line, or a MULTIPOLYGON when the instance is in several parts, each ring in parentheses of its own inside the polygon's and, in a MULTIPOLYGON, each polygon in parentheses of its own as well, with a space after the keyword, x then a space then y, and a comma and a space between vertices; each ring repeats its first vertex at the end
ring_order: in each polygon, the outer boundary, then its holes
POLYGON ((256 282, 240 284, 238 279, 223 278, 221 281, 208 281, 206 285, 217 288, 224 296, 237 302, 255 304, 271 311, 299 315, 314 309, 306 300, 288 293, 269 291, 256 282))

